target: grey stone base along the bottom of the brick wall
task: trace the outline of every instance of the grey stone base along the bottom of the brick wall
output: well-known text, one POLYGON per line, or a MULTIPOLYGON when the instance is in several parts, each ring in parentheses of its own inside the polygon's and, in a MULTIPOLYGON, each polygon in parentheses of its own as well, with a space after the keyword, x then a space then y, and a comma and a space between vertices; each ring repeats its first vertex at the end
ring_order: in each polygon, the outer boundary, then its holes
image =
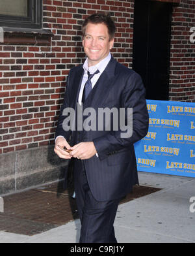
POLYGON ((53 146, 1 154, 0 163, 0 195, 60 180, 68 165, 53 146))

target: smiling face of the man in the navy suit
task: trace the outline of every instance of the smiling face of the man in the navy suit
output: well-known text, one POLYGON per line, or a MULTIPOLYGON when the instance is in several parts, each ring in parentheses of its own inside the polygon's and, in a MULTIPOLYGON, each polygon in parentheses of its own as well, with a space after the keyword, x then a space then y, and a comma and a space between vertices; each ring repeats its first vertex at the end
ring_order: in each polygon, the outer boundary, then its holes
POLYGON ((105 24, 88 23, 83 37, 83 47, 88 57, 88 66, 94 66, 110 52, 114 39, 109 40, 109 31, 105 24))

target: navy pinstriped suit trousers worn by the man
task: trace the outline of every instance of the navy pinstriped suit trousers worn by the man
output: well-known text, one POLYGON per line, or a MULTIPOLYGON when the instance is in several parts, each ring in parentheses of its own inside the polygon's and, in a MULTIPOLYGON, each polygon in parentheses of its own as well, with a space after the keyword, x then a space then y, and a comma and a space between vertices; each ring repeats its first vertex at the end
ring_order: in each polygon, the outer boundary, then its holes
MULTIPOLYGON (((98 182, 98 180, 97 180, 98 182)), ((120 199, 99 202, 94 199, 82 160, 75 159, 74 185, 81 220, 80 243, 116 243, 114 219, 120 199)))

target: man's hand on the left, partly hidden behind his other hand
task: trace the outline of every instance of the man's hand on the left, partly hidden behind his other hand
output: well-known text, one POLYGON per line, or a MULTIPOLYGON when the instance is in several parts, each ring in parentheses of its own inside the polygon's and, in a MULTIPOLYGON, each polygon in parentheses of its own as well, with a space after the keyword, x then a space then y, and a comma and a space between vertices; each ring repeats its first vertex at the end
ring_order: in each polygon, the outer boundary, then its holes
POLYGON ((57 155, 60 158, 70 159, 72 156, 70 155, 69 152, 66 152, 64 150, 64 147, 66 147, 67 150, 70 150, 70 145, 68 144, 66 139, 62 136, 57 137, 57 139, 55 140, 54 152, 57 153, 57 155))

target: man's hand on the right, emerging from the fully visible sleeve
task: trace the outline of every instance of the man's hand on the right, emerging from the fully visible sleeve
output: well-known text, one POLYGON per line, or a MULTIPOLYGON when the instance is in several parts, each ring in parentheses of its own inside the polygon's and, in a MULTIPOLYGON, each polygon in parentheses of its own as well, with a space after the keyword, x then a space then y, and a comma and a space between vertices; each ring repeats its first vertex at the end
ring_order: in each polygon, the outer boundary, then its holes
POLYGON ((70 149, 72 150, 72 152, 70 152, 72 157, 77 157, 82 160, 93 157, 97 153, 94 142, 81 142, 79 144, 75 144, 70 149))

